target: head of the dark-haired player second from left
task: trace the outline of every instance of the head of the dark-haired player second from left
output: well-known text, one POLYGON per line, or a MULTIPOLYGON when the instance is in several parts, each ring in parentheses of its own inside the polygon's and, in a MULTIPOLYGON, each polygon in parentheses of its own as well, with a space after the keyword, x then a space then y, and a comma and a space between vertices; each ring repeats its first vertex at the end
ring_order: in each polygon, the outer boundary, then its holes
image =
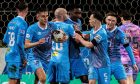
POLYGON ((48 21, 48 9, 45 7, 40 7, 36 11, 36 18, 41 25, 46 25, 48 21))

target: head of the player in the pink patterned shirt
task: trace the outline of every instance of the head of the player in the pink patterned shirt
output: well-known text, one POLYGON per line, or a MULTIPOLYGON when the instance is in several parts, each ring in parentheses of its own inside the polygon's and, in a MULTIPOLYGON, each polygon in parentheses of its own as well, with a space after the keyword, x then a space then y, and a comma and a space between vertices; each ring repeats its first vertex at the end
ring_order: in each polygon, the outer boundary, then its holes
POLYGON ((132 20, 131 14, 126 10, 122 11, 122 13, 120 14, 120 18, 121 18, 122 23, 124 21, 131 21, 132 20))

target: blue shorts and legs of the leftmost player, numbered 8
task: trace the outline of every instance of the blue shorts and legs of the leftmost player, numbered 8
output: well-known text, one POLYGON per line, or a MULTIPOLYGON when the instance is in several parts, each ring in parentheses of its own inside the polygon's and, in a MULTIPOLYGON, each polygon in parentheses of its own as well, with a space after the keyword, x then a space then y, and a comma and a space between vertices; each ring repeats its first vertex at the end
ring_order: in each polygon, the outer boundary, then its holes
POLYGON ((9 84, 19 84, 21 79, 21 63, 7 63, 7 74, 9 77, 9 84))

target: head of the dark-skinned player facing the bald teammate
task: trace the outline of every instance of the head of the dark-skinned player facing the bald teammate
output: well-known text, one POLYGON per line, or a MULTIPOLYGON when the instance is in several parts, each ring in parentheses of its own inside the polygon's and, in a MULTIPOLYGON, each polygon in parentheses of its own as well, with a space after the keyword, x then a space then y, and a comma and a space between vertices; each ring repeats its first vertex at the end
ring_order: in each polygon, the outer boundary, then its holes
POLYGON ((75 18, 75 19, 79 19, 82 17, 81 13, 82 13, 82 10, 81 10, 80 5, 71 6, 70 17, 75 18))

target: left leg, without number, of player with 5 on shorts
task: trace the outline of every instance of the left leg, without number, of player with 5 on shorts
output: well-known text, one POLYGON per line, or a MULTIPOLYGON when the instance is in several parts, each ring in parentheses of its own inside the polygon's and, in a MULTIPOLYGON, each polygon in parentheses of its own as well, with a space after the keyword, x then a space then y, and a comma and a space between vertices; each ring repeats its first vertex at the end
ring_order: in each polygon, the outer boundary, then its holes
POLYGON ((96 84, 98 80, 98 72, 97 69, 93 66, 89 67, 89 74, 88 74, 89 84, 96 84))

